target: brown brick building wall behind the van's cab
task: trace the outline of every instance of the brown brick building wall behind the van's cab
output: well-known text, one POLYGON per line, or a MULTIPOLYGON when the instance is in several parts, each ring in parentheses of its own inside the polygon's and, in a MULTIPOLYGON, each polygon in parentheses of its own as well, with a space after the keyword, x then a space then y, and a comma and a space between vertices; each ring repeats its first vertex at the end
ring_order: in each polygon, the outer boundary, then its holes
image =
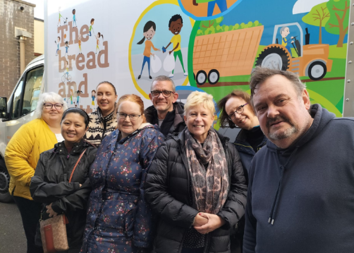
POLYGON ((9 97, 20 73, 20 47, 15 27, 26 29, 32 38, 25 40, 25 65, 34 56, 33 4, 19 0, 0 0, 0 97, 9 97), (23 6, 24 10, 18 8, 23 6))

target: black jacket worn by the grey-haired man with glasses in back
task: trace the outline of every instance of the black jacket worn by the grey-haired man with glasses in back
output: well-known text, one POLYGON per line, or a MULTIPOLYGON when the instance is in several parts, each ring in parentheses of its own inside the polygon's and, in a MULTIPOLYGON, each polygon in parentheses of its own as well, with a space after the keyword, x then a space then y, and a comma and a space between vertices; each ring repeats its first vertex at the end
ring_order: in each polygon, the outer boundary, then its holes
MULTIPOLYGON (((184 104, 181 102, 173 103, 173 111, 167 113, 159 130, 166 137, 168 134, 177 136, 185 128, 183 119, 184 104)), ((155 107, 152 105, 145 109, 144 115, 146 122, 159 125, 159 118, 155 107)))

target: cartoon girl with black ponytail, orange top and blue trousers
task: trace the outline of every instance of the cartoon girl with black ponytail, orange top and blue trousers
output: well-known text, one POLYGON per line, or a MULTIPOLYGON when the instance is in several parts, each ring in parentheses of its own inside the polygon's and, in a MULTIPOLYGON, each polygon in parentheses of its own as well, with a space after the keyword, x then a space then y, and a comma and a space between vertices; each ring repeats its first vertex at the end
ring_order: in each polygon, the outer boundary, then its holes
POLYGON ((160 49, 154 47, 153 42, 151 42, 152 38, 155 35, 155 31, 156 31, 156 24, 153 21, 146 22, 146 24, 144 25, 144 29, 143 29, 144 38, 142 38, 142 40, 137 43, 138 45, 141 45, 141 44, 143 44, 143 42, 146 39, 145 49, 143 52, 143 55, 144 55, 143 66, 141 67, 141 72, 140 72, 140 75, 138 76, 138 79, 141 78, 141 74, 143 73, 145 63, 148 63, 149 78, 152 79, 152 77, 150 75, 150 56, 154 56, 155 54, 151 53, 151 47, 155 51, 161 51, 160 49))

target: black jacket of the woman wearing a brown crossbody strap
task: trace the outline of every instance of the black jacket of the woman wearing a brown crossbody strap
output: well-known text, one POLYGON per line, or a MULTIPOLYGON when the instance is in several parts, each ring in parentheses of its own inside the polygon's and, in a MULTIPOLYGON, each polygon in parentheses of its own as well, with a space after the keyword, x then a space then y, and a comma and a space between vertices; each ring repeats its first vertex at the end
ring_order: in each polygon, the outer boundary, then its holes
POLYGON ((69 224, 67 235, 69 247, 82 244, 86 223, 86 204, 91 192, 88 177, 89 168, 96 155, 96 148, 81 140, 75 144, 70 154, 64 142, 55 144, 54 149, 40 154, 39 161, 31 179, 30 192, 34 201, 43 203, 42 219, 48 219, 45 206, 52 203, 52 209, 58 214, 64 213, 69 224), (69 178, 79 156, 85 150, 69 178), (80 187, 80 184, 82 186, 80 187))

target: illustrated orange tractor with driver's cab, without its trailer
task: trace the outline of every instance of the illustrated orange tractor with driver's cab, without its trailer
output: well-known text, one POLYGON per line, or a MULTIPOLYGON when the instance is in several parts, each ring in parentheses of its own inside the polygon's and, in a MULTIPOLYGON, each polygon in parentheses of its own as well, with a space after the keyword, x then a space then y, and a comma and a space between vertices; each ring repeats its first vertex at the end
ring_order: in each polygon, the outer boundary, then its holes
POLYGON ((275 25, 273 44, 265 47, 259 54, 256 65, 288 70, 299 76, 308 76, 312 80, 320 80, 326 75, 327 71, 332 70, 333 61, 328 59, 329 45, 309 45, 309 41, 310 34, 306 28, 305 45, 303 44, 303 30, 297 22, 275 25), (290 42, 298 57, 291 57, 287 48, 279 44, 278 39, 276 39, 277 34, 279 35, 279 28, 291 27, 292 25, 296 25, 300 31, 300 41, 296 39, 297 36, 294 36, 294 40, 290 42))

